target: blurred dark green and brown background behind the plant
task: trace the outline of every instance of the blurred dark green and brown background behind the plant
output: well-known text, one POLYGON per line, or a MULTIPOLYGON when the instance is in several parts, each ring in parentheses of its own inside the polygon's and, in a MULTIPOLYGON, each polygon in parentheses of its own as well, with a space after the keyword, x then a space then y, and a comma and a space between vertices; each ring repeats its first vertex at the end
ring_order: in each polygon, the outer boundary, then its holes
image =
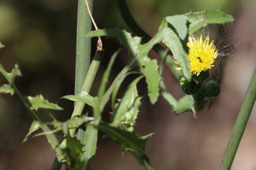
MULTIPOLYGON (((135 128, 140 135, 155 132, 148 139, 146 153, 157 170, 218 169, 256 66, 256 2, 131 0, 128 3, 136 21, 152 36, 164 16, 183 14, 190 10, 220 7, 236 19, 231 24, 208 29, 217 33, 217 38, 222 35, 218 32, 225 30, 226 37, 237 44, 227 57, 220 79, 221 93, 211 108, 198 113, 196 119, 191 112, 175 115, 162 97, 156 105, 151 105, 145 99, 135 128)), ((18 63, 23 74, 23 77, 16 79, 20 91, 32 96, 41 93, 50 102, 64 108, 63 111, 51 111, 61 121, 67 120, 73 109, 72 102, 59 98, 74 93, 76 14, 77 1, 72 0, 0 1, 0 41, 6 46, 0 50, 0 62, 8 71, 18 63)), ((94 1, 93 16, 99 28, 119 26, 129 30, 115 1, 94 1)), ((93 39, 92 44, 95 43, 93 39)), ((97 92, 100 77, 111 54, 119 48, 119 42, 113 38, 103 38, 103 45, 106 54, 92 94, 97 92)), ((112 71, 112 78, 124 66, 127 57, 125 51, 121 53, 112 71)), ((151 57, 159 60, 154 52, 151 57)), ((184 93, 172 72, 164 67, 163 76, 167 89, 177 99, 181 98, 184 93)), ((0 84, 4 83, 6 80, 1 75, 0 84)), ((142 94, 146 93, 143 82, 139 90, 142 94)), ((109 111, 106 109, 103 113, 106 121, 109 111)), ((41 111, 41 114, 50 120, 48 111, 41 111)), ((254 108, 232 170, 256 169, 255 119, 254 108)), ((50 169, 55 155, 44 136, 30 138, 22 143, 31 122, 30 114, 16 95, 0 95, 0 170, 50 169)), ((93 169, 143 169, 130 153, 122 155, 120 145, 103 138, 101 133, 97 148, 93 169)))

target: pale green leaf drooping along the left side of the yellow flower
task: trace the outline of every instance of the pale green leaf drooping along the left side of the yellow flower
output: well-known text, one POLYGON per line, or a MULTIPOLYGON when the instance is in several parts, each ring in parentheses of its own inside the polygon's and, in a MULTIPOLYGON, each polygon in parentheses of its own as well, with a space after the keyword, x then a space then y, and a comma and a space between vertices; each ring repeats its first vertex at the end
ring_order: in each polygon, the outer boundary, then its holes
POLYGON ((180 41, 178 35, 170 28, 167 27, 167 22, 162 21, 161 25, 165 25, 166 29, 164 30, 164 37, 162 42, 172 51, 173 58, 179 62, 182 67, 184 77, 190 81, 191 80, 191 71, 189 66, 189 59, 187 53, 185 52, 183 45, 180 41))

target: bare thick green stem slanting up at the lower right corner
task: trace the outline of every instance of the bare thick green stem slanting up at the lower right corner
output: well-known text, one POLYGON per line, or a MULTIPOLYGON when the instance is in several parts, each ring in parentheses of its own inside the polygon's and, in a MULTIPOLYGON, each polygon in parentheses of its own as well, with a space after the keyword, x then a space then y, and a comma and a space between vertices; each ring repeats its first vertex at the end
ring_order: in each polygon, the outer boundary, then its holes
POLYGON ((237 153, 239 143, 243 136, 246 124, 250 117, 251 110, 256 99, 256 69, 252 76, 249 88, 245 94, 242 106, 240 108, 237 121, 234 124, 229 142, 227 144, 224 156, 222 158, 219 170, 229 170, 237 153))

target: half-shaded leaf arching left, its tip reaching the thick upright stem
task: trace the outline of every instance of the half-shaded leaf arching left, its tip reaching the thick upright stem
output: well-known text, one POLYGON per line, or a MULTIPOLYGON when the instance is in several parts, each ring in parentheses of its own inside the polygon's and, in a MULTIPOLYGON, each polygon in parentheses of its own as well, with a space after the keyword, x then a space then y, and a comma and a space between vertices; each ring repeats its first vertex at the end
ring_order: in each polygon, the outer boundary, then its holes
POLYGON ((130 52, 131 55, 136 56, 138 52, 138 46, 141 42, 140 37, 133 37, 131 33, 121 30, 116 27, 114 29, 103 29, 89 32, 86 37, 98 37, 98 36, 111 36, 117 37, 121 44, 123 44, 130 52))

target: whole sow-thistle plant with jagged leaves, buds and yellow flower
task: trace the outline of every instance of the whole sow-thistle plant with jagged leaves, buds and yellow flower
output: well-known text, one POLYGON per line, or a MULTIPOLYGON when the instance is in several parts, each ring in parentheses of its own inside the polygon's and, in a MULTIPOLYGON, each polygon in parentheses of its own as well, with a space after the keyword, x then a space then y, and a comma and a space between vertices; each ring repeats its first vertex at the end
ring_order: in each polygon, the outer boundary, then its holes
MULTIPOLYGON (((120 5, 120 3, 125 3, 125 1, 117 1, 117 3, 119 4, 119 8, 121 8, 121 12, 127 12, 127 10, 122 9, 126 8, 126 5, 120 5)), ((90 169, 91 160, 95 156, 97 148, 97 131, 100 130, 105 136, 111 137, 114 141, 120 143, 123 152, 131 152, 145 169, 153 169, 150 159, 145 154, 146 140, 152 134, 140 136, 134 132, 139 108, 142 105, 142 96, 139 95, 137 90, 138 82, 145 79, 148 90, 147 95, 152 104, 158 101, 159 91, 161 91, 164 99, 172 106, 176 114, 186 111, 193 111, 195 113, 201 110, 205 102, 212 101, 212 98, 220 92, 218 83, 208 78, 209 70, 215 67, 218 49, 214 41, 210 41, 209 36, 206 36, 206 38, 203 38, 202 35, 196 37, 193 33, 205 27, 207 23, 226 23, 231 21, 233 21, 233 17, 219 9, 168 16, 161 22, 157 34, 148 40, 148 42, 143 43, 141 42, 143 41, 142 38, 132 36, 131 33, 119 28, 96 30, 83 35, 83 38, 99 36, 117 37, 120 43, 129 51, 131 60, 119 72, 113 82, 108 82, 112 66, 118 55, 118 52, 114 53, 102 76, 98 94, 92 96, 90 94, 90 88, 96 76, 100 60, 103 57, 103 50, 98 49, 81 91, 75 95, 66 95, 63 97, 77 102, 73 112, 75 116, 72 116, 71 119, 64 123, 58 122, 54 117, 52 117, 53 121, 48 124, 41 119, 37 109, 61 110, 61 108, 49 103, 42 96, 36 96, 34 98, 23 96, 14 85, 14 78, 20 76, 17 67, 11 72, 7 72, 0 63, 0 72, 9 81, 9 84, 0 87, 0 93, 16 93, 20 96, 34 118, 34 122, 31 124, 25 140, 32 133, 41 129, 43 132, 37 134, 37 136, 46 135, 52 149, 56 152, 57 158, 55 159, 55 163, 57 165, 61 163, 70 169, 90 169), (191 35, 187 39, 188 54, 182 44, 183 41, 186 41, 185 37, 187 35, 191 35), (183 96, 180 100, 176 100, 168 93, 161 79, 161 69, 159 69, 157 60, 148 57, 150 50, 152 48, 155 50, 155 47, 160 42, 165 44, 168 50, 172 52, 175 62, 179 65, 179 69, 182 69, 184 77, 179 78, 180 85, 187 95, 183 96), (136 68, 139 68, 139 70, 131 71, 136 68), (117 100, 116 96, 119 93, 119 88, 124 79, 130 74, 138 74, 139 76, 127 87, 122 99, 117 100), (106 85, 109 83, 110 86, 107 87, 106 85), (110 99, 113 106, 113 115, 111 120, 106 122, 101 119, 101 114, 110 99), (196 107, 198 103, 201 104, 200 108, 196 107), (93 108, 93 117, 81 115, 86 104, 93 108), (53 127, 50 128, 48 125, 53 127), (76 130, 80 127, 86 127, 86 131, 78 130, 76 138, 76 130), (62 131, 65 134, 61 140, 58 140, 54 134, 58 131, 62 131)), ((166 51, 162 47, 161 49, 162 51, 166 51)), ((81 50, 83 51, 84 49, 81 50)), ((159 52, 159 49, 156 51, 159 52)), ((161 54, 167 54, 167 52, 161 54)), ((165 61, 168 65, 169 62, 165 60, 164 55, 160 56, 163 58, 162 63, 165 61)), ((168 66, 170 68, 170 65, 168 66)), ((173 65, 171 67, 173 68, 173 65)), ((55 163, 52 169, 60 169, 61 165, 57 166, 55 163)))

